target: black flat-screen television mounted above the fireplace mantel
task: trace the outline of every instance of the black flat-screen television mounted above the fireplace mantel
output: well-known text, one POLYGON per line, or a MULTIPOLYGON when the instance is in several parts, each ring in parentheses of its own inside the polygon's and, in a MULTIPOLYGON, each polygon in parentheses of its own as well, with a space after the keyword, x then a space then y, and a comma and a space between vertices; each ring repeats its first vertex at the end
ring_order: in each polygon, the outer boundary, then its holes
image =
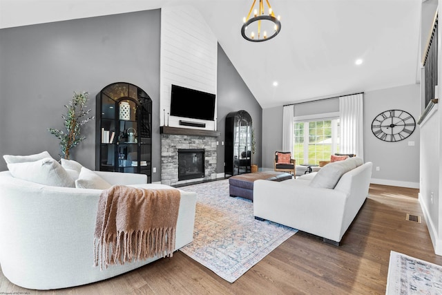
POLYGON ((171 115, 213 121, 215 95, 172 84, 171 115))

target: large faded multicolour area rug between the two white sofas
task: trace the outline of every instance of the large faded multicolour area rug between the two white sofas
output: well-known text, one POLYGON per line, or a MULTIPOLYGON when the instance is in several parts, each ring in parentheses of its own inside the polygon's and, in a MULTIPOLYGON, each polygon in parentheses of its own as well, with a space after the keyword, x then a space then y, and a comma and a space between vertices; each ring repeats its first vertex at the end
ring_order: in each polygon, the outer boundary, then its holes
POLYGON ((180 189, 197 193, 193 242, 180 251, 230 283, 297 232, 255 220, 253 202, 231 198, 228 180, 180 189))

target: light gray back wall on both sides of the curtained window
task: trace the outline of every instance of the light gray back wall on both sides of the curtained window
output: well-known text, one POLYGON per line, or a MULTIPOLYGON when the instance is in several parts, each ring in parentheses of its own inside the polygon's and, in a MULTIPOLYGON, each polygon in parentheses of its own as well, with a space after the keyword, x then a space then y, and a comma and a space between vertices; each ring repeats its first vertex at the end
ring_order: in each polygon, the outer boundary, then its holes
MULTIPOLYGON (((419 187, 419 126, 407 140, 383 142, 372 133, 374 117, 389 109, 401 109, 419 119, 419 84, 364 93, 364 160, 373 162, 374 183, 419 187), (408 142, 414 141, 414 146, 408 142), (376 166, 380 167, 376 171, 376 166)), ((296 109, 296 108, 295 108, 296 109)), ((262 111, 262 163, 273 167, 273 153, 282 149, 282 106, 262 111)))

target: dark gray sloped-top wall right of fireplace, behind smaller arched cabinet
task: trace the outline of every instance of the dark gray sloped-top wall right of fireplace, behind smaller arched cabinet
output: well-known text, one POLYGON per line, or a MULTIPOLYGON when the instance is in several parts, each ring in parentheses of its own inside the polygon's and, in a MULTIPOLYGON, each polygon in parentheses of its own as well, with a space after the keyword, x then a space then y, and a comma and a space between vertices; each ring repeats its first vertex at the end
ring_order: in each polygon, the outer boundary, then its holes
MULTIPOLYGON (((251 115, 252 126, 255 129, 256 153, 253 164, 261 166, 262 155, 262 108, 249 91, 246 84, 236 71, 236 68, 218 44, 218 131, 221 131, 220 141, 225 141, 226 115, 233 111, 244 110, 251 115)), ((224 146, 218 145, 218 173, 224 172, 224 146)))

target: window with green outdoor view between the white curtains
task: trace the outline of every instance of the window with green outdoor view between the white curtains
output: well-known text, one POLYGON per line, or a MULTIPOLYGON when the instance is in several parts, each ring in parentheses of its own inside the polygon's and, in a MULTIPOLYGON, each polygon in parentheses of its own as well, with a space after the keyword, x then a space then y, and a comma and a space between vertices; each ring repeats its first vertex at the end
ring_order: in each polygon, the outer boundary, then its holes
POLYGON ((319 164, 339 152, 339 119, 294 122, 296 164, 319 164))

